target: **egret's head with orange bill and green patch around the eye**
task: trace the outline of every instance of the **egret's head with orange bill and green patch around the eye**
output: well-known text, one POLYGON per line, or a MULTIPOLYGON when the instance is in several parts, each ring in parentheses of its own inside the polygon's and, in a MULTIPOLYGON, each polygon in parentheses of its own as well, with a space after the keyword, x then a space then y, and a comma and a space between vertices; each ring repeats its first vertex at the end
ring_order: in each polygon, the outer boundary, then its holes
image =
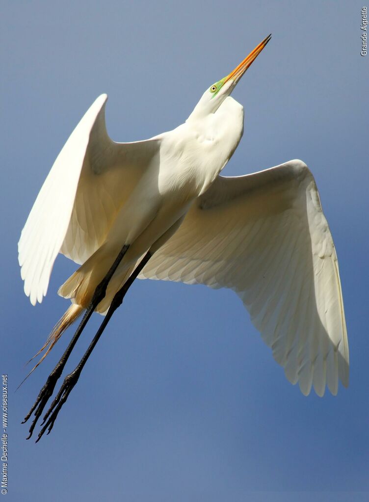
POLYGON ((268 35, 268 37, 255 47, 255 49, 246 58, 244 58, 244 60, 241 61, 239 65, 229 73, 229 75, 208 87, 188 119, 200 118, 201 116, 206 116, 209 113, 215 113, 224 99, 232 92, 239 79, 250 67, 251 63, 262 52, 271 37, 272 34, 268 35))

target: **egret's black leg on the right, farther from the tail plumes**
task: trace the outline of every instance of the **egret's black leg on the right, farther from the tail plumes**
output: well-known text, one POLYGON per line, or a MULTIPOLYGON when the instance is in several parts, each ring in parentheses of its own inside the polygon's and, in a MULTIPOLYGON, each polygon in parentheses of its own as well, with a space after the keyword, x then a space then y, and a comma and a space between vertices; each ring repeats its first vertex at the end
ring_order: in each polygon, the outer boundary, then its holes
POLYGON ((137 276, 142 271, 142 269, 145 267, 145 265, 147 264, 147 262, 150 260, 151 257, 152 257, 152 254, 150 252, 146 253, 145 257, 141 260, 139 265, 133 271, 133 273, 131 274, 129 279, 126 281, 124 286, 122 286, 120 288, 120 290, 115 294, 114 298, 111 301, 109 310, 107 311, 104 320, 102 321, 99 329, 97 330, 97 333, 95 334, 93 340, 91 341, 84 356, 82 357, 82 359, 80 360, 80 362, 76 366, 76 368, 65 377, 64 382, 60 388, 60 391, 58 392, 57 396, 55 397, 54 401, 52 402, 49 410, 47 411, 47 413, 44 417, 44 420, 41 424, 41 425, 43 425, 43 427, 38 435, 36 443, 41 439, 41 437, 45 433, 46 429, 49 429, 47 433, 48 434, 50 433, 51 429, 54 426, 54 422, 58 416, 59 411, 61 410, 63 404, 66 402, 71 390, 78 382, 78 378, 79 378, 79 375, 81 374, 83 366, 85 365, 88 357, 90 356, 92 350, 94 349, 98 339, 100 338, 102 332, 104 331, 111 316, 113 315, 115 310, 119 307, 119 305, 121 305, 128 289, 130 288, 130 286, 132 285, 134 280, 137 278, 137 276))

